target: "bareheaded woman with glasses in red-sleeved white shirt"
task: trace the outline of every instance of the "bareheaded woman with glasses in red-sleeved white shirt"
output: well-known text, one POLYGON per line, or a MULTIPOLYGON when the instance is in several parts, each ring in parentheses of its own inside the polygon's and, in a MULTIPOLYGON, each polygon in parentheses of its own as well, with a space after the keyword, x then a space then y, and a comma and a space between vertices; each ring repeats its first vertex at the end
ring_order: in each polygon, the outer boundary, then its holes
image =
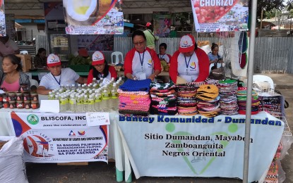
POLYGON ((136 30, 132 34, 134 48, 126 53, 124 59, 124 75, 128 79, 155 80, 162 68, 157 53, 145 46, 145 34, 136 30))

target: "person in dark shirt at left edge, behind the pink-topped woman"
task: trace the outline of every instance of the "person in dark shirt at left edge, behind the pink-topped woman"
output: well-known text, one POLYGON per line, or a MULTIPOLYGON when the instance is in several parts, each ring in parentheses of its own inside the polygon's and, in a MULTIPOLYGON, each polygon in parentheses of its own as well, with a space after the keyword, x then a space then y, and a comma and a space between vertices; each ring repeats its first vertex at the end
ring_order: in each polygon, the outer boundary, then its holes
POLYGON ((19 54, 18 45, 8 36, 0 37, 0 65, 2 65, 3 57, 8 54, 19 54))

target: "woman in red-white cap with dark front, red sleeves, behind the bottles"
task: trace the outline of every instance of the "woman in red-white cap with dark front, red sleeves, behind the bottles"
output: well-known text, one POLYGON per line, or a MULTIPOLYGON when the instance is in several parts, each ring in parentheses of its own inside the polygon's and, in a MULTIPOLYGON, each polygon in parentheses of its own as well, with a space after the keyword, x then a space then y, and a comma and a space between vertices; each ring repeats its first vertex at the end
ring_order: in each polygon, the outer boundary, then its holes
POLYGON ((88 73, 88 84, 92 82, 93 77, 97 80, 100 80, 100 78, 107 78, 107 80, 111 80, 112 77, 117 78, 115 68, 107 64, 104 54, 100 51, 95 51, 92 54, 92 69, 88 73))

